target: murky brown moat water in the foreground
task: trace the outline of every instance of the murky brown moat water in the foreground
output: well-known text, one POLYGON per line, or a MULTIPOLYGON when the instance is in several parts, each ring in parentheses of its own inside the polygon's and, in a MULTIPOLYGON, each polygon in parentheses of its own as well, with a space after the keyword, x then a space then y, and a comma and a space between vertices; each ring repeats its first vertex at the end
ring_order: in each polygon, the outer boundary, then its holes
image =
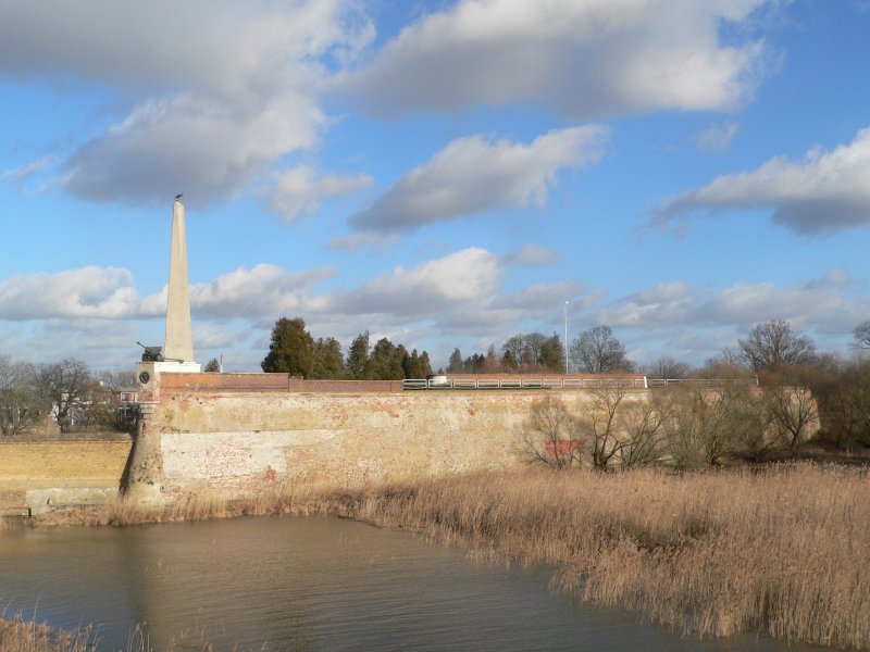
POLYGON ((584 650, 780 652, 747 635, 682 639, 554 594, 546 569, 476 563, 419 536, 325 517, 0 531, 0 609, 94 625, 162 652, 584 650))

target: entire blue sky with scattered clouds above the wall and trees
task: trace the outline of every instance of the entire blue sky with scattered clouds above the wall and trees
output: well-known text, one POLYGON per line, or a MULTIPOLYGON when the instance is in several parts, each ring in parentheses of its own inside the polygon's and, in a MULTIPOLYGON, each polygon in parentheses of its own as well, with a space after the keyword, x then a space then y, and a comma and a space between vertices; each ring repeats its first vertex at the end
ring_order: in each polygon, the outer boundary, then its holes
POLYGON ((282 316, 446 366, 610 326, 700 365, 870 319, 868 0, 0 0, 0 355, 282 316), (568 301, 568 305, 566 305, 568 301))

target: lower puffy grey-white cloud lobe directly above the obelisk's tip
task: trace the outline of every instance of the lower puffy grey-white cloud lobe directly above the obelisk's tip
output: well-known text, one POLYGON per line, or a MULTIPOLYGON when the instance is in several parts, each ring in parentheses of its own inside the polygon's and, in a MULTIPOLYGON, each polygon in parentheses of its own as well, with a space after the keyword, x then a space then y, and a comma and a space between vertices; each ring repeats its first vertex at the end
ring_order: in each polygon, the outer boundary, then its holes
POLYGON ((269 104, 244 115, 195 96, 140 106, 71 154, 63 185, 96 201, 147 202, 184 191, 188 204, 202 205, 233 196, 281 155, 316 140, 323 116, 313 99, 287 93, 269 104))

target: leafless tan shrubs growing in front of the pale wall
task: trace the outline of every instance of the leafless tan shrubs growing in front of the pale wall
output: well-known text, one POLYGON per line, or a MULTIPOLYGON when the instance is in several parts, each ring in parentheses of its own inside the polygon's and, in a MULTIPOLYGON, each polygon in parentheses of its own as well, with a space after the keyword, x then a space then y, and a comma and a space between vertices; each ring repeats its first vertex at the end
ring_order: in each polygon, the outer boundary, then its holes
POLYGON ((563 397, 546 397, 532 405, 520 434, 533 460, 557 468, 685 471, 793 451, 818 422, 819 404, 803 387, 673 385, 638 397, 617 384, 585 392, 573 409, 563 397))

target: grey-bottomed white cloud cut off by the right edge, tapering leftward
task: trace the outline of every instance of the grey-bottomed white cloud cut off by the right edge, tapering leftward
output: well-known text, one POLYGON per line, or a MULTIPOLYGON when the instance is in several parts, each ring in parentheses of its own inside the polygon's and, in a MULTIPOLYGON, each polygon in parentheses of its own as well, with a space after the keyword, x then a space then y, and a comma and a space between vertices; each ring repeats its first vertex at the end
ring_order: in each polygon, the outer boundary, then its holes
POLYGON ((810 150, 801 162, 776 156, 751 172, 717 177, 666 202, 654 222, 757 209, 772 210, 774 223, 799 234, 870 224, 870 128, 832 151, 810 150))

